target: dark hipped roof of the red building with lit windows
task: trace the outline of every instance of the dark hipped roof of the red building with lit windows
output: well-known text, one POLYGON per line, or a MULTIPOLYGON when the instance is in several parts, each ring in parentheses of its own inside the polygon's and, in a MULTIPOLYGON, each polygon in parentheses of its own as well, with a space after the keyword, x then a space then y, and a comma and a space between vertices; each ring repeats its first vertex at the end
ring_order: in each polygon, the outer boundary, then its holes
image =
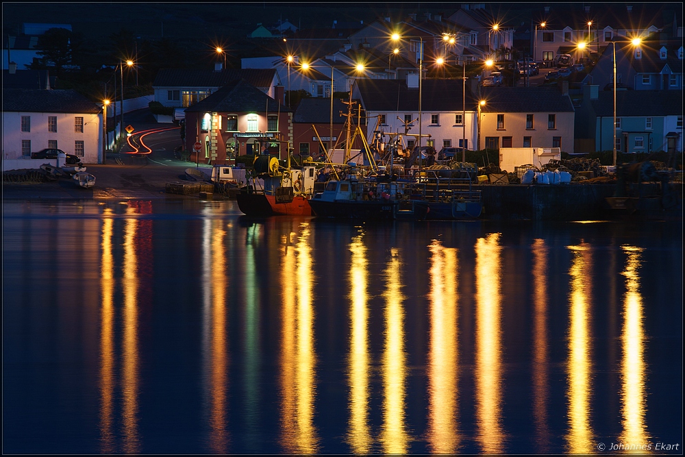
POLYGON ((186 112, 264 112, 265 110, 273 114, 279 111, 292 111, 243 79, 234 79, 206 99, 186 108, 186 112))

